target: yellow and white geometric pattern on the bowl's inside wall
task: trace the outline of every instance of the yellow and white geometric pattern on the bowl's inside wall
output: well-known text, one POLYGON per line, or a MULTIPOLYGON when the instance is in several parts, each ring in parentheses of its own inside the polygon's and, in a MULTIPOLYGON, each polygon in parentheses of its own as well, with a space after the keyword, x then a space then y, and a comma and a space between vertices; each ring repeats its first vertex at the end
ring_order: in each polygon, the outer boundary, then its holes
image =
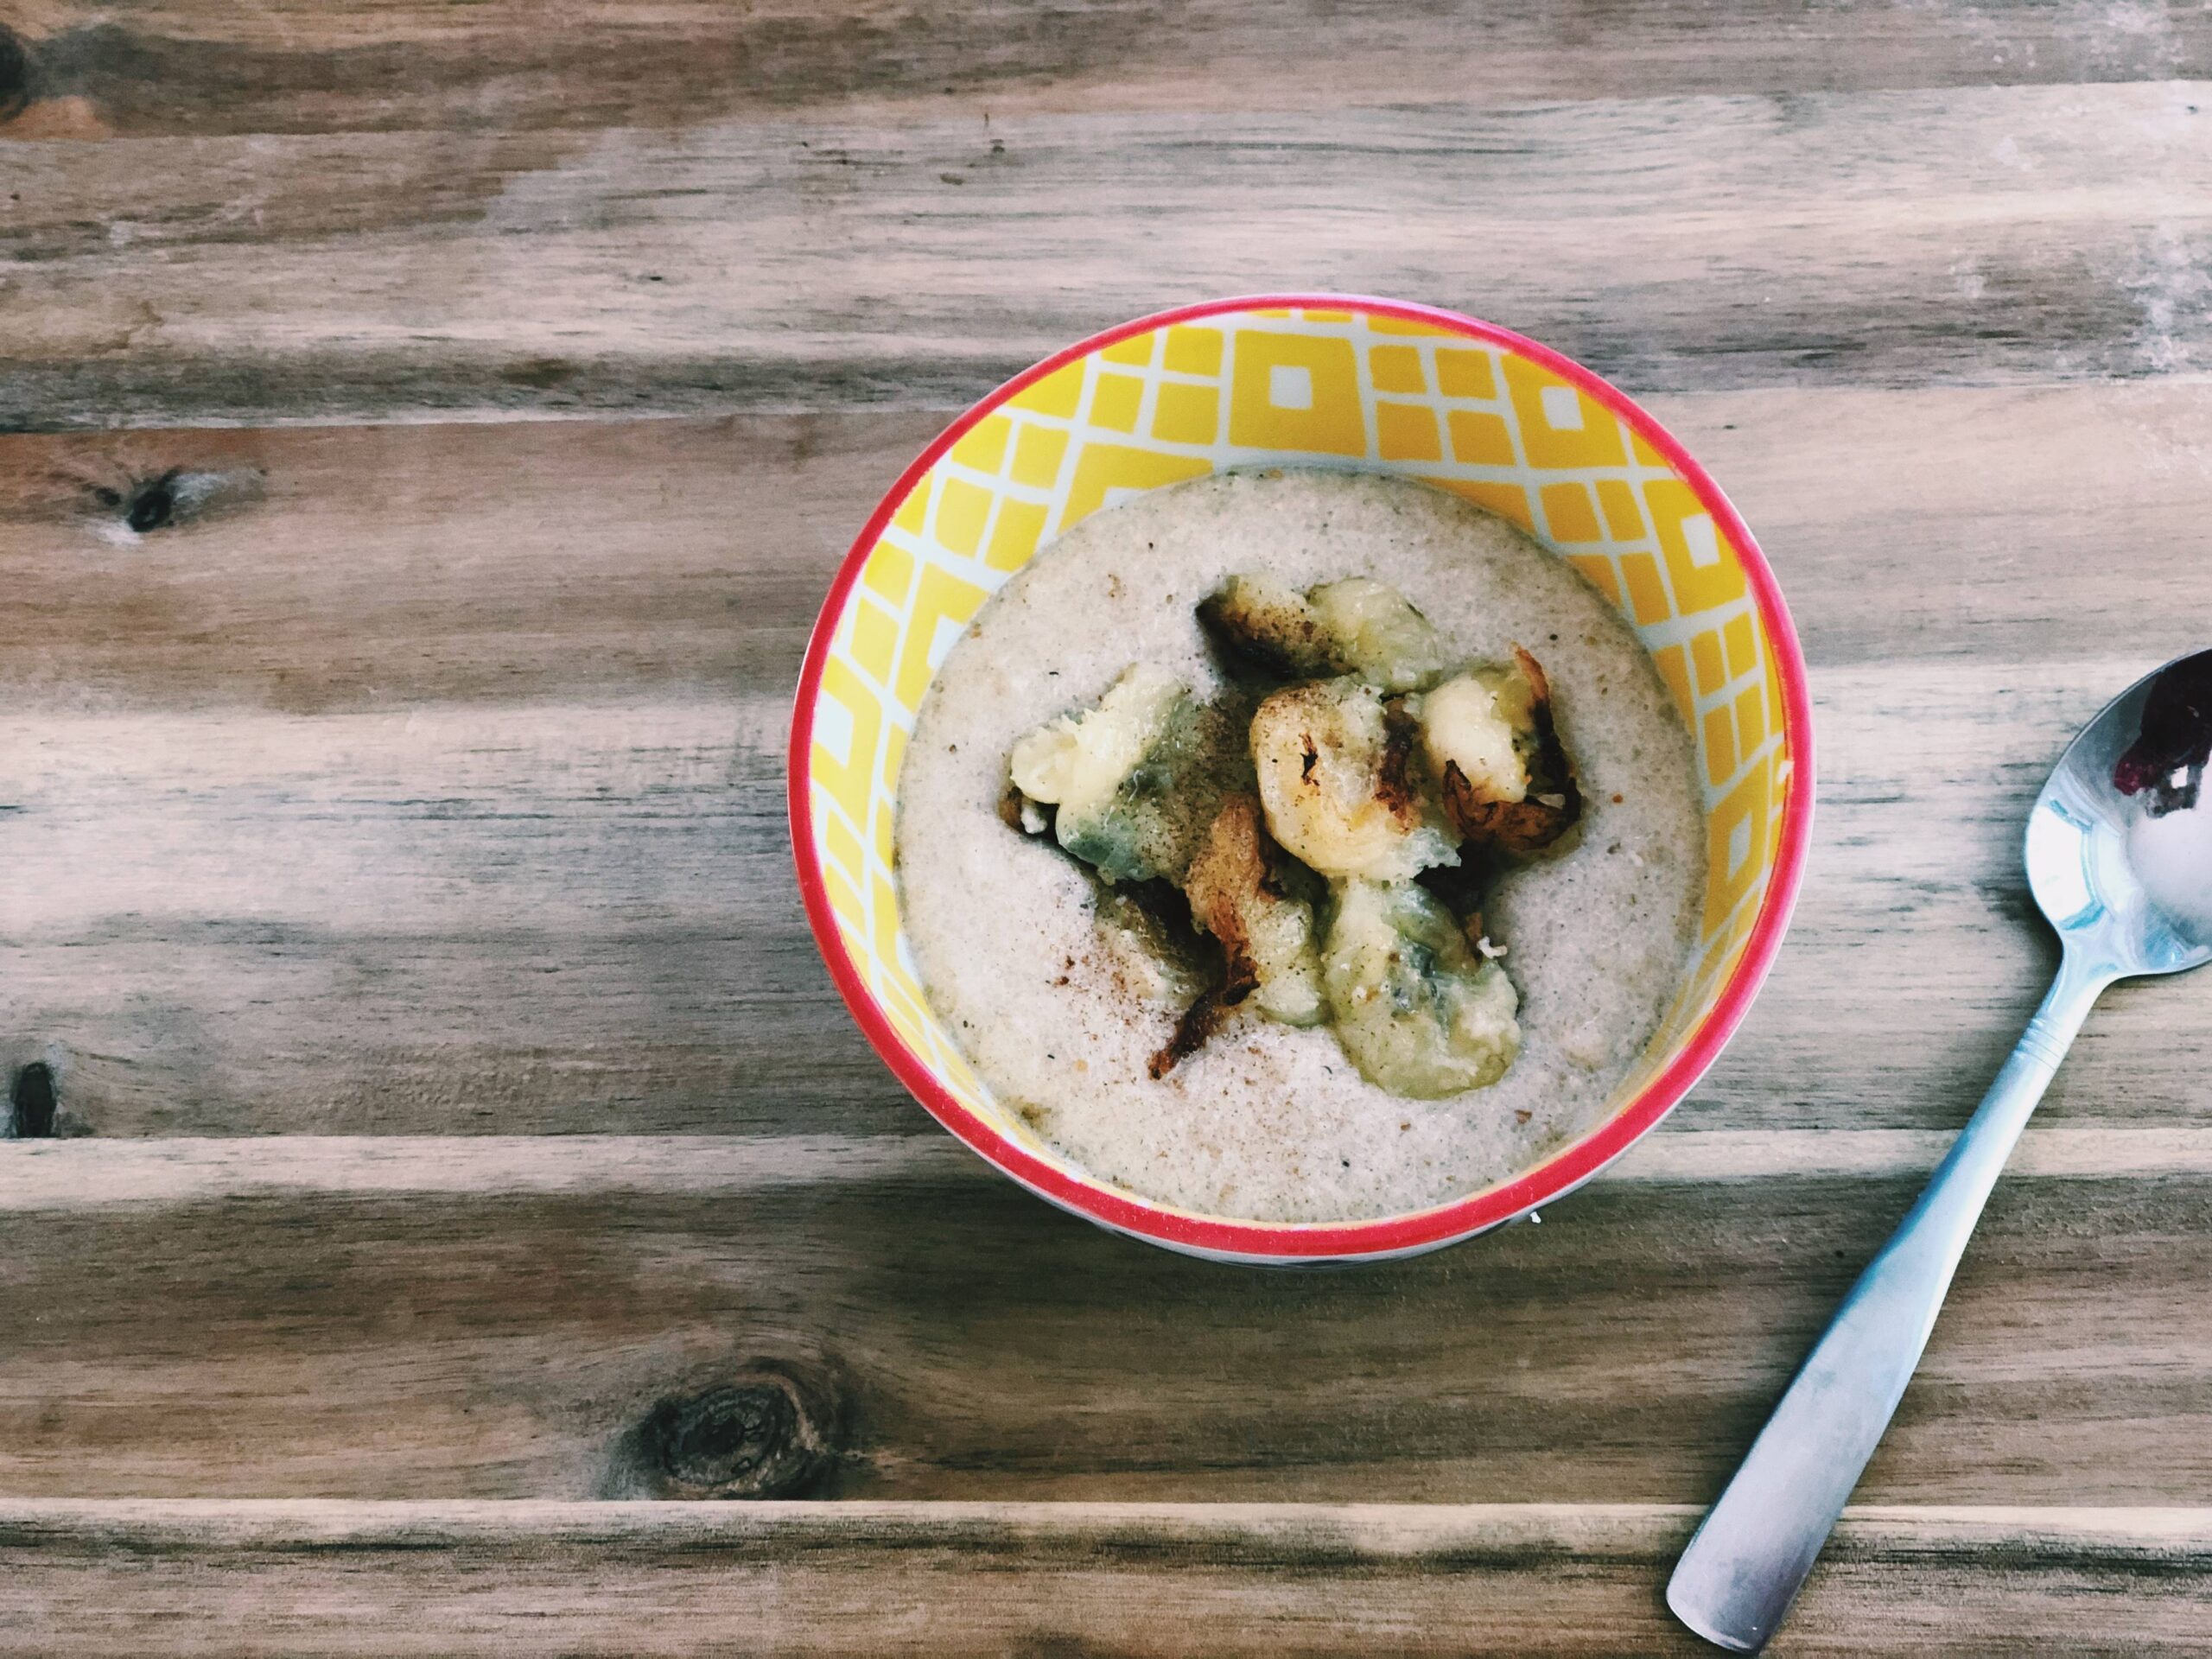
POLYGON ((1624 420, 1502 345, 1347 310, 1175 323, 1068 363, 987 414, 907 493, 836 622, 807 825, 860 978, 964 1104, 1033 1150, 938 1029, 898 925, 898 765, 929 677, 978 606, 1071 524, 1230 467, 1418 478, 1537 535, 1635 626, 1697 739, 1708 896, 1692 973, 1626 1102, 1712 1006, 1778 847, 1790 745, 1776 653, 1728 531, 1624 420))

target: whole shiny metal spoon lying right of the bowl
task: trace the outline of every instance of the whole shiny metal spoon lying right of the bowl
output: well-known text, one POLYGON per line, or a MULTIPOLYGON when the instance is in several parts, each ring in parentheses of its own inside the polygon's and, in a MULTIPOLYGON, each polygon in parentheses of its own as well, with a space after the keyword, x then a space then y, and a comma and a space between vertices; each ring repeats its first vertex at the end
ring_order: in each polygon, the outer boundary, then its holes
POLYGON ((2064 958, 2013 1057, 1911 1214, 1851 1285, 1666 1601, 1708 1641, 1756 1652, 1781 1626, 1898 1409, 1997 1170, 2112 980, 2212 960, 2212 650, 2106 706, 2028 814, 2028 887, 2064 958))

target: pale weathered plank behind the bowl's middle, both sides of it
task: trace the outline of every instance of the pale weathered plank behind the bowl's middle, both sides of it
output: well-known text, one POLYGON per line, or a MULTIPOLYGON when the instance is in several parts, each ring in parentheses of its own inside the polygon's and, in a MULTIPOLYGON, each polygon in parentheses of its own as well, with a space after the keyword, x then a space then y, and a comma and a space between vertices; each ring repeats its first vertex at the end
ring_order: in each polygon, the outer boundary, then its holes
MULTIPOLYGON (((2026 807, 2141 666, 1816 670, 1814 880, 1688 1121, 1964 1117, 2051 969, 2026 807)), ((0 719, 0 1064, 64 1135, 918 1130, 805 933, 781 743, 754 701, 0 719)), ((2112 991, 2048 1110, 2192 1121, 2208 1015, 2112 991)))

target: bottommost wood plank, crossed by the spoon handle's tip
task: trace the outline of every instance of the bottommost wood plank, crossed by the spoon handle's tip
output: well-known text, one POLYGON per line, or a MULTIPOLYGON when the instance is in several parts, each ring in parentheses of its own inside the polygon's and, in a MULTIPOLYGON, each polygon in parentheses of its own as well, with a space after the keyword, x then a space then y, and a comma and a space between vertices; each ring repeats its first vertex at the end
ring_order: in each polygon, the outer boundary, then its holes
MULTIPOLYGON (((0 1506, 0 1652, 1710 1652, 1661 1504, 0 1506), (407 1619, 392 1619, 394 1604, 407 1619), (741 1613, 741 1621, 732 1617, 741 1613)), ((2201 1650, 2203 1509, 1851 1509, 1776 1655, 2201 1650)))

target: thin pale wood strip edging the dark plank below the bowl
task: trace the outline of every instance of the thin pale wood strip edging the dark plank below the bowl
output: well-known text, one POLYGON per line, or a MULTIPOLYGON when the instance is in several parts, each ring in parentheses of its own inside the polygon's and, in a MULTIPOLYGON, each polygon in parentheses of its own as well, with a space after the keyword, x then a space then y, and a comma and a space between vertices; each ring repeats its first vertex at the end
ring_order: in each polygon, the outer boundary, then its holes
MULTIPOLYGON (((1933 1170, 1944 1130, 1659 1133, 1604 1181, 1887 1179, 1933 1170)), ((2028 1128, 2011 1175, 2115 1181, 2212 1175, 2212 1126, 2028 1128)), ((982 1179, 936 1135, 272 1135, 0 1146, 0 1212, 181 1206, 276 1194, 701 1194, 982 1179)))

